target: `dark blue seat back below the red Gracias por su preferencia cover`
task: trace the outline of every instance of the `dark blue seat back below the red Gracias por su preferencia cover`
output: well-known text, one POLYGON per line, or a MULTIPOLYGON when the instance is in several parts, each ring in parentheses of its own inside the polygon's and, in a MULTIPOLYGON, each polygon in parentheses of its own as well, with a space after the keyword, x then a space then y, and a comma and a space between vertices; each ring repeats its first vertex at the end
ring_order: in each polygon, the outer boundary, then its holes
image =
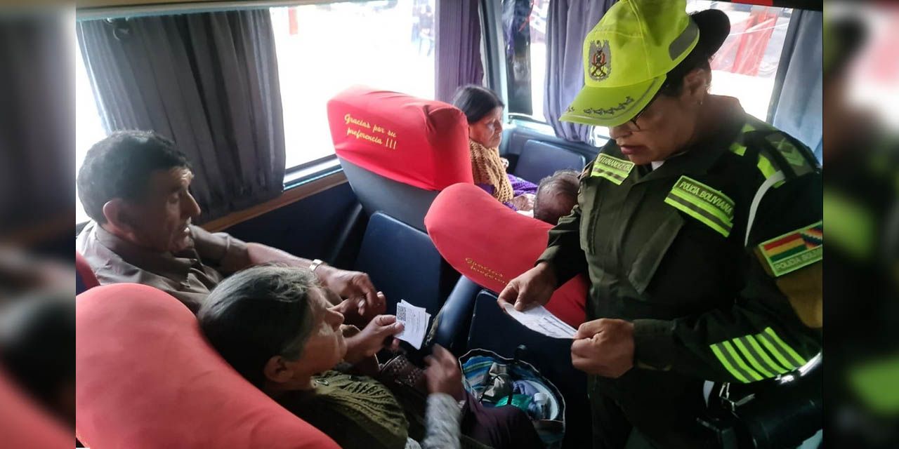
POLYGON ((428 234, 382 212, 369 219, 355 269, 387 296, 387 313, 405 299, 436 316, 458 280, 428 234))

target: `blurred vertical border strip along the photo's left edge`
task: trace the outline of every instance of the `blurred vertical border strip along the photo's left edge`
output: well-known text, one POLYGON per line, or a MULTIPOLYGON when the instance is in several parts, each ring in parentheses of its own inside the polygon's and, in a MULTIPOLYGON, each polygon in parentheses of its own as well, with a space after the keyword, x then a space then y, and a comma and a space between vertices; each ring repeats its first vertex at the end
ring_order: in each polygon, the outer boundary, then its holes
POLYGON ((0 441, 75 444, 71 10, 0 8, 0 441))

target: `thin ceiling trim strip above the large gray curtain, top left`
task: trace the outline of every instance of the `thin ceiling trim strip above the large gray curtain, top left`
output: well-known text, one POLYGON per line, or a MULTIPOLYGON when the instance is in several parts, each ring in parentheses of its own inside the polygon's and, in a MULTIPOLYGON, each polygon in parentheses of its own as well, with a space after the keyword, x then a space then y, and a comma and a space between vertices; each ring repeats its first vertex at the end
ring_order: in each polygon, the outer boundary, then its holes
MULTIPOLYGON (((366 0, 349 0, 364 2, 366 0)), ((330 4, 334 0, 246 0, 223 2, 218 0, 81 0, 77 2, 76 18, 79 21, 97 19, 121 19, 147 15, 217 13, 247 9, 266 9, 305 4, 330 4)))

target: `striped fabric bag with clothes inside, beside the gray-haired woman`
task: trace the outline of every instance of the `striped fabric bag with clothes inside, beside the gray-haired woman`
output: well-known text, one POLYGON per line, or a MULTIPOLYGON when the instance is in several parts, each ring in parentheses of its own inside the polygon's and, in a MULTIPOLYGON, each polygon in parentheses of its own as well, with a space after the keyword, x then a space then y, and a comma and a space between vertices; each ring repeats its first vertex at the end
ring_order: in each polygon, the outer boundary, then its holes
MULTIPOLYGON (((494 365, 494 372, 497 368, 504 367, 503 371, 509 374, 513 381, 526 381, 535 391, 544 393, 549 399, 547 418, 531 418, 531 422, 547 448, 562 447, 562 440, 565 437, 565 398, 556 385, 540 374, 537 368, 528 362, 501 357, 486 349, 471 349, 459 357, 458 361, 462 365, 462 383, 465 389, 479 400, 494 381, 491 374, 491 367, 494 365)), ((482 403, 490 406, 485 401, 482 403)))

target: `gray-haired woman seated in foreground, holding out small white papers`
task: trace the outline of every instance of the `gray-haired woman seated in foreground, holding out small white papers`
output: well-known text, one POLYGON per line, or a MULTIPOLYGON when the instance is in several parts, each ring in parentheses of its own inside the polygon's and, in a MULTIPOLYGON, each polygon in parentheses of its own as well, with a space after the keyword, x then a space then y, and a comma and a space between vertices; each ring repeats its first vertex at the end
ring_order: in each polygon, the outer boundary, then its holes
POLYGON ((485 408, 468 394, 458 360, 440 346, 425 359, 423 417, 366 376, 377 367, 361 365, 388 340, 396 342, 390 337, 402 324, 378 315, 344 339, 343 315, 327 307, 307 269, 262 266, 236 273, 212 291, 197 319, 238 373, 344 449, 542 447, 524 411, 485 408))

